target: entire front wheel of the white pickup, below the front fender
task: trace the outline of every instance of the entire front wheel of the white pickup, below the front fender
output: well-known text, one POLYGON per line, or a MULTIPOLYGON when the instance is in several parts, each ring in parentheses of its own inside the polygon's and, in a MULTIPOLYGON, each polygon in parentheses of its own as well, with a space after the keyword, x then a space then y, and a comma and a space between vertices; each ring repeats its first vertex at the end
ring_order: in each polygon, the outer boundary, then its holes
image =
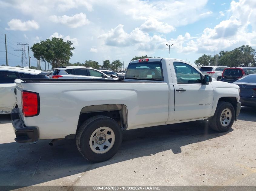
POLYGON ((214 116, 209 119, 211 129, 219 132, 228 131, 235 119, 235 110, 231 103, 220 101, 217 105, 214 116))

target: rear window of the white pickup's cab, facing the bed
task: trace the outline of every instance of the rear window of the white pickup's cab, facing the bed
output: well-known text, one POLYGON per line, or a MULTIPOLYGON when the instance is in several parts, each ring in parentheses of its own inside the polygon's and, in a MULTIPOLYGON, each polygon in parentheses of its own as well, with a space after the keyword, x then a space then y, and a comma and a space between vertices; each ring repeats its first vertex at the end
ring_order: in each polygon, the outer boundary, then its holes
POLYGON ((130 63, 125 74, 125 79, 164 81, 161 62, 136 62, 130 63))

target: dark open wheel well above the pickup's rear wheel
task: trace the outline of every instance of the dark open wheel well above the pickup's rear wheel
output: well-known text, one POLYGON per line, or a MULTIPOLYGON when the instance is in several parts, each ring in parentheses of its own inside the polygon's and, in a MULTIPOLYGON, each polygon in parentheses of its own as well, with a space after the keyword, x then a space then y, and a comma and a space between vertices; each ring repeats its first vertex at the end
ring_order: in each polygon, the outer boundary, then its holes
POLYGON ((114 119, 121 129, 127 129, 128 113, 127 107, 123 104, 106 104, 106 105, 93 105, 82 108, 78 119, 77 130, 83 122, 93 116, 108 116, 114 119))

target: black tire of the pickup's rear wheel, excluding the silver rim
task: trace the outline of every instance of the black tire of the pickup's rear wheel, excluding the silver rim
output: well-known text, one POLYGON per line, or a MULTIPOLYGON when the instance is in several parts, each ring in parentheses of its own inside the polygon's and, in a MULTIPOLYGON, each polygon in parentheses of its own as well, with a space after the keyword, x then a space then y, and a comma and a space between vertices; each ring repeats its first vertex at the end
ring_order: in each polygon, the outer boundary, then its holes
POLYGON ((87 119, 78 129, 76 133, 76 145, 79 152, 92 162, 102 162, 113 157, 121 146, 122 132, 118 123, 107 116, 94 116, 87 119), (115 142, 109 151, 103 154, 98 154, 92 151, 89 145, 89 140, 92 133, 99 127, 109 127, 115 133, 115 142))

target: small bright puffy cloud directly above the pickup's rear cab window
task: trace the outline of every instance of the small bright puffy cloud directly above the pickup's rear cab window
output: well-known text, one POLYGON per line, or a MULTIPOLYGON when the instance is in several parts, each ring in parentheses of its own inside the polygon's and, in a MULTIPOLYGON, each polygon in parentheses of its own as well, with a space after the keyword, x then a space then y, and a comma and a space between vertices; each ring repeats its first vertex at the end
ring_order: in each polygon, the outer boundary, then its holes
POLYGON ((167 23, 160 22, 155 18, 148 18, 145 23, 141 24, 140 29, 146 32, 157 31, 160 33, 170 33, 175 28, 167 23))

